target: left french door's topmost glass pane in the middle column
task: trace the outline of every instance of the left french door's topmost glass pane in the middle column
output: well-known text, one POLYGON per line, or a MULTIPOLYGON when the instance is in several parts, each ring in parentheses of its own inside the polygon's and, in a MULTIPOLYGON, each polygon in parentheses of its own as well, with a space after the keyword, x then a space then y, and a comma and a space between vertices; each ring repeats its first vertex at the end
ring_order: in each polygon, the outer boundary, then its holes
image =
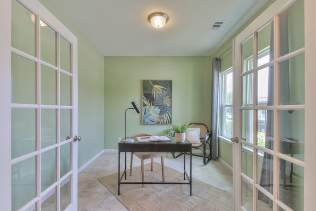
POLYGON ((40 27, 40 59, 56 66, 56 32, 49 26, 40 27))

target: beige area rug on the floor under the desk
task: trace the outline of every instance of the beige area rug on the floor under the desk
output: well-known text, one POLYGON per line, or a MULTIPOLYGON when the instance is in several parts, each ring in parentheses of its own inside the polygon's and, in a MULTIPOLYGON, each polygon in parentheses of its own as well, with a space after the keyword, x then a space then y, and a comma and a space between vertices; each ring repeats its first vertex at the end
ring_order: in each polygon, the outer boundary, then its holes
MULTIPOLYGON (((154 171, 150 164, 145 165, 145 182, 162 181, 160 164, 154 163, 154 171)), ((194 170, 194 167, 193 167, 194 170)), ((211 173, 211 172, 210 172, 211 173)), ((140 182, 140 167, 133 168, 132 176, 126 181, 140 182)), ((130 211, 232 211, 233 195, 227 191, 192 179, 192 196, 190 185, 178 184, 121 184, 118 196, 118 174, 114 173, 99 178, 100 181, 130 211)), ((165 167, 167 182, 183 181, 183 174, 165 167)))

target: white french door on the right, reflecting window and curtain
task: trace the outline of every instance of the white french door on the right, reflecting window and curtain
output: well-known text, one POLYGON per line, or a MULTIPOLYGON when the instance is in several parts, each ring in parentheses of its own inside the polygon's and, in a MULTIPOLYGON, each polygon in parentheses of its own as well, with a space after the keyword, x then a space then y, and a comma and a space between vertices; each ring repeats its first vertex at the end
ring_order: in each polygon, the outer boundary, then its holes
POLYGON ((307 52, 315 41, 306 34, 315 29, 304 23, 313 16, 306 2, 275 1, 234 40, 235 210, 312 209, 306 196, 315 185, 305 180, 315 173, 307 129, 315 83, 307 52))

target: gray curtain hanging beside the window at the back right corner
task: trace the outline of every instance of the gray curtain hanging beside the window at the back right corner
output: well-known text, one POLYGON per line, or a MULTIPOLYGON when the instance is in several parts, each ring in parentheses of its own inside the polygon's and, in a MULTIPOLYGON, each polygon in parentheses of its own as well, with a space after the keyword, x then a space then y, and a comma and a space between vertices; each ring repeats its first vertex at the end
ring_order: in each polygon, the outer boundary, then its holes
POLYGON ((212 141, 211 141, 211 154, 212 159, 217 159, 217 134, 218 134, 218 96, 219 96, 219 72, 221 67, 221 59, 218 57, 212 60, 212 105, 211 105, 211 131, 212 131, 212 141))

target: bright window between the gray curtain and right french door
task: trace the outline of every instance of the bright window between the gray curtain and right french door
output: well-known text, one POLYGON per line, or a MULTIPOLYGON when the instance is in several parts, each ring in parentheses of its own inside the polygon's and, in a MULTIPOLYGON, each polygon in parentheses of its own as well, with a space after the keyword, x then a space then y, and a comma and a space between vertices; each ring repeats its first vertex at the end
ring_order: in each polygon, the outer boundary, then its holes
POLYGON ((233 68, 220 74, 219 135, 230 139, 233 135, 233 68))

